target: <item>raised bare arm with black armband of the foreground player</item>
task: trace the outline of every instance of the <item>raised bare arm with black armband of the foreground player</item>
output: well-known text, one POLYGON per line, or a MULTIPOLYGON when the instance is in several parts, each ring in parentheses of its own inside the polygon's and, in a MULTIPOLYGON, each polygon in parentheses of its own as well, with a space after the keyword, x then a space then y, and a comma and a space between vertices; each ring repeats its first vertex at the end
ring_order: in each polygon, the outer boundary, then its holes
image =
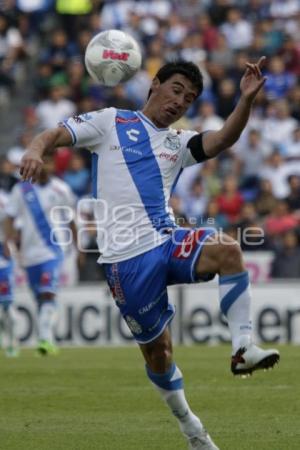
POLYGON ((266 77, 261 73, 264 60, 265 57, 263 56, 256 64, 246 64, 247 68, 240 82, 240 99, 223 127, 218 131, 202 133, 191 138, 188 147, 191 148, 191 152, 197 161, 200 162, 217 156, 239 139, 247 125, 254 99, 266 81, 266 77), (199 144, 198 155, 197 144, 199 144))

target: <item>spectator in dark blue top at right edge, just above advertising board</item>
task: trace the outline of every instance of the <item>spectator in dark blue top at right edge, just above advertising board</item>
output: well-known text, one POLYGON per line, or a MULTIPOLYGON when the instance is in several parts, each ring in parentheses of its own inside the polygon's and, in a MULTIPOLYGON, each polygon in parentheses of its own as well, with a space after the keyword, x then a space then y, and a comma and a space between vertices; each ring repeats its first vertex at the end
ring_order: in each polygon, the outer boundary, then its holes
POLYGON ((284 233, 271 266, 272 278, 300 278, 299 235, 294 229, 284 233))

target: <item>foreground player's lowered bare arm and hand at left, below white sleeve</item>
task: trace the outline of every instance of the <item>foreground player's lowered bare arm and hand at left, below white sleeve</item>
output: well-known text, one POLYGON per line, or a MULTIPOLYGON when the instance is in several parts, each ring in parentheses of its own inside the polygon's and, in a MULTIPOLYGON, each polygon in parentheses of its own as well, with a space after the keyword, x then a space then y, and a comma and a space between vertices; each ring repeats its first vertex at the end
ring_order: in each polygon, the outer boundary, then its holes
POLYGON ((43 155, 57 147, 72 145, 72 137, 65 127, 45 130, 34 137, 29 144, 20 166, 23 181, 37 180, 43 165, 43 155))

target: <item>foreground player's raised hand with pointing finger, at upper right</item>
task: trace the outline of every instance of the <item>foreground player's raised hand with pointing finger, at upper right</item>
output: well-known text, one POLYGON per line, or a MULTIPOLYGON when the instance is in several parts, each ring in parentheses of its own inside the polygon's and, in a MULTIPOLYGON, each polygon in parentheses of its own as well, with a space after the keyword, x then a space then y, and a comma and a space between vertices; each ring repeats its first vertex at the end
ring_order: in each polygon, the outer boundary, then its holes
POLYGON ((244 98, 254 100, 258 91, 265 84, 267 77, 261 73, 261 67, 266 60, 265 56, 259 58, 257 63, 246 63, 246 72, 241 79, 240 89, 244 98))

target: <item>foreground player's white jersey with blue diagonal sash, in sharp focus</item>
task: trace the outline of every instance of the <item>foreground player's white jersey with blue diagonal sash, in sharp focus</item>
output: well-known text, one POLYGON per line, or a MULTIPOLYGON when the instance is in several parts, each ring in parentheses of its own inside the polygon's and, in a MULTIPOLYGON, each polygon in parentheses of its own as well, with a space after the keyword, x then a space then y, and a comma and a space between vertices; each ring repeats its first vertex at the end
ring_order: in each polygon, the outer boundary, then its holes
POLYGON ((92 152, 99 262, 144 253, 170 238, 168 203, 184 167, 196 164, 187 143, 197 134, 157 128, 140 111, 107 108, 64 122, 73 145, 92 152))

